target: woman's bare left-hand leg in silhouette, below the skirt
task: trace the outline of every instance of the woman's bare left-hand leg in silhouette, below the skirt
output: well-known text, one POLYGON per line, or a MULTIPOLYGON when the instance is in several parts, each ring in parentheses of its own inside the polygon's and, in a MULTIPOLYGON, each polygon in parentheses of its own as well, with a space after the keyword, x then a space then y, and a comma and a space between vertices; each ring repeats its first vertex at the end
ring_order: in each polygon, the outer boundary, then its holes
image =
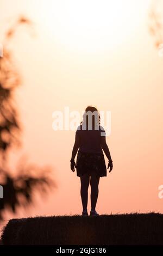
POLYGON ((80 195, 82 198, 83 211, 87 210, 87 190, 90 184, 90 175, 84 174, 80 177, 81 189, 80 195))

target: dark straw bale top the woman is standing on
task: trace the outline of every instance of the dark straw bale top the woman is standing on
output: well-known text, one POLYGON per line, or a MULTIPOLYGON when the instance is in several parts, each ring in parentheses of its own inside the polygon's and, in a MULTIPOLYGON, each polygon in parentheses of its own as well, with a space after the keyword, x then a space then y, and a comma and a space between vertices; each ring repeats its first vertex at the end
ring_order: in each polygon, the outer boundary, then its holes
POLYGON ((4 245, 163 245, 163 215, 52 216, 10 220, 4 245))

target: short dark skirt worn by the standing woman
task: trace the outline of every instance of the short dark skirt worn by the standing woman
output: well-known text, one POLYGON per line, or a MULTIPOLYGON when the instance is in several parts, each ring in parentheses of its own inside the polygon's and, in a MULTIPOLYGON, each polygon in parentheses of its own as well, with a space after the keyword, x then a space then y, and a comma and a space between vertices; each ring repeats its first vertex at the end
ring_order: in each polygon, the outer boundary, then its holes
POLYGON ((94 172, 99 177, 106 176, 106 165, 103 154, 83 153, 78 151, 77 176, 94 172))

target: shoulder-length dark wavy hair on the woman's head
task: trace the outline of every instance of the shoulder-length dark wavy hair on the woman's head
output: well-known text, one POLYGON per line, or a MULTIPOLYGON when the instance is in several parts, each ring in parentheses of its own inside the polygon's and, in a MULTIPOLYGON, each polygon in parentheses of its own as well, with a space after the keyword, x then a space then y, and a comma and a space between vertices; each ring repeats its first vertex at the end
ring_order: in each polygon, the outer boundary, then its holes
MULTIPOLYGON (((98 109, 96 107, 92 107, 92 106, 87 106, 85 108, 85 112, 83 114, 83 120, 80 124, 86 124, 86 127, 88 127, 88 124, 90 124, 90 120, 91 120, 91 126, 92 128, 95 129, 95 127, 99 128, 101 119, 100 119, 100 114, 98 112, 98 109)), ((91 129, 89 129, 91 130, 91 129)))

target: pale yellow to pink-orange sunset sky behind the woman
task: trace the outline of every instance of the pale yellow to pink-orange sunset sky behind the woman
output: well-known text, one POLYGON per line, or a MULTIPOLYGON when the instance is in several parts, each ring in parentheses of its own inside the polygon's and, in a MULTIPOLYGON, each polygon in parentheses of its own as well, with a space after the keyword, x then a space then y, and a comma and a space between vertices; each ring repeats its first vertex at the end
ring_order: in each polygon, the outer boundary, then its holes
POLYGON ((58 184, 18 217, 81 214, 80 179, 70 169, 75 132, 54 131, 52 113, 88 105, 111 112, 114 168, 99 182, 99 214, 163 213, 163 57, 148 31, 151 2, 0 0, 0 41, 18 15, 34 23, 9 46, 23 81, 16 92, 22 148, 10 164, 27 155, 51 166, 58 184))

